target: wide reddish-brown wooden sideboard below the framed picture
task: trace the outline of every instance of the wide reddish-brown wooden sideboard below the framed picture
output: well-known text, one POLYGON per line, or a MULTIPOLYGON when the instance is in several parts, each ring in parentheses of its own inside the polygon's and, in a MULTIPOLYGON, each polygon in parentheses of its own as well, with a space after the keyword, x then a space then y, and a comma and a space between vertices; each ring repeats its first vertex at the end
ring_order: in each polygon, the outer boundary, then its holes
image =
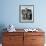
POLYGON ((3 32, 3 46, 44 46, 44 32, 3 32))

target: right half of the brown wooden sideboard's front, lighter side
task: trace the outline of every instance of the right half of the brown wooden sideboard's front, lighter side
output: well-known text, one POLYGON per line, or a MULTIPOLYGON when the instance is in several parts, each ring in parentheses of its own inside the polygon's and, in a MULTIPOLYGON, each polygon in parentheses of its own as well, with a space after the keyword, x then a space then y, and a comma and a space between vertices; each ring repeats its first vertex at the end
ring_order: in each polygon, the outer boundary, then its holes
POLYGON ((44 46, 43 32, 24 33, 24 46, 44 46))

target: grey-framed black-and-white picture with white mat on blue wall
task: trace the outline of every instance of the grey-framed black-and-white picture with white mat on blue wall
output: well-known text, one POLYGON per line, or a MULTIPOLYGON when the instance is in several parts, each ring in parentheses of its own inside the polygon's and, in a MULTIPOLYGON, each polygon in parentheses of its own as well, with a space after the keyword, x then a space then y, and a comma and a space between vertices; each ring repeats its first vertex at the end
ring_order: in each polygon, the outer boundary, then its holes
POLYGON ((34 5, 19 6, 19 21, 23 23, 34 22, 34 5))

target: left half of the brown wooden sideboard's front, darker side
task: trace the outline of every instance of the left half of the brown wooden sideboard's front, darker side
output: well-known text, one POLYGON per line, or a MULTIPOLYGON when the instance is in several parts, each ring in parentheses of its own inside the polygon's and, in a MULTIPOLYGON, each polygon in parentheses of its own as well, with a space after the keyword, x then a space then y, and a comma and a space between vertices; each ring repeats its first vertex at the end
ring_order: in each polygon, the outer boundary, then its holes
POLYGON ((23 33, 4 32, 3 46, 23 46, 23 33))

